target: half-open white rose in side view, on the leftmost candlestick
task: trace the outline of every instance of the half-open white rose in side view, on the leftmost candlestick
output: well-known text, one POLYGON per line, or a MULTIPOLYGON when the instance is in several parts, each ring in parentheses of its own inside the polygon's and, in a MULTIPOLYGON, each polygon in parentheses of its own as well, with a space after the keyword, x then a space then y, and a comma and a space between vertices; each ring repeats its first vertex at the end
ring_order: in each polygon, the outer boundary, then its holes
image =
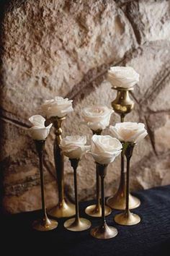
POLYGON ((31 116, 29 121, 33 124, 33 126, 29 129, 32 139, 45 140, 46 137, 48 137, 50 127, 52 127, 53 124, 45 127, 45 118, 40 115, 31 116))

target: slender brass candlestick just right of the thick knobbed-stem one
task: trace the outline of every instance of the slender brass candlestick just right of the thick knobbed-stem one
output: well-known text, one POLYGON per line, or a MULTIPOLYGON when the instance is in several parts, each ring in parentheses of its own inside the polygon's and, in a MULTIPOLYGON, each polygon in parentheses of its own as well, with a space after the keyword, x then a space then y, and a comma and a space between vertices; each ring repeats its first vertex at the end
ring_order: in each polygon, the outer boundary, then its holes
POLYGON ((76 170, 79 164, 79 159, 70 159, 71 166, 73 167, 73 178, 74 178, 74 192, 75 192, 75 203, 76 203, 76 217, 68 219, 64 226, 66 229, 70 231, 84 231, 89 229, 91 226, 91 222, 88 221, 86 218, 79 217, 79 199, 78 199, 78 192, 77 192, 77 178, 76 178, 76 170))

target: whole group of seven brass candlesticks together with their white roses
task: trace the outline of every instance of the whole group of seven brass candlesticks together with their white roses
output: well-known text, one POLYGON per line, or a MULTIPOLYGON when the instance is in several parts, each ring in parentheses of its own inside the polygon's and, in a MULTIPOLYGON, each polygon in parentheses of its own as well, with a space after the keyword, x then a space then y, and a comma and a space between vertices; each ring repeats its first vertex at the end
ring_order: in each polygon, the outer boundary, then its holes
POLYGON ((91 146, 86 144, 86 136, 67 136, 62 138, 62 123, 66 115, 73 111, 72 101, 68 98, 55 97, 52 100, 45 101, 42 105, 42 111, 52 122, 45 126, 45 118, 40 115, 30 117, 32 127, 30 133, 35 140, 37 153, 40 160, 40 181, 42 195, 42 218, 35 221, 32 226, 38 231, 49 231, 58 226, 58 218, 70 218, 64 223, 64 227, 70 231, 84 231, 89 229, 91 222, 86 218, 79 216, 79 199, 77 192, 76 171, 79 161, 84 153, 89 151, 96 162, 96 192, 97 200, 95 205, 89 205, 85 209, 87 216, 101 218, 100 226, 91 229, 90 234, 98 239, 109 239, 117 235, 117 229, 107 226, 105 216, 108 216, 112 209, 123 210, 122 213, 115 216, 115 222, 120 225, 131 226, 140 222, 140 216, 131 213, 130 210, 140 205, 140 200, 130 195, 130 158, 133 155, 135 144, 146 137, 147 132, 144 124, 124 122, 125 115, 134 108, 134 102, 130 99, 130 91, 133 85, 139 81, 139 74, 132 67, 111 67, 108 72, 107 80, 111 82, 112 88, 117 90, 117 97, 112 101, 112 108, 115 113, 120 115, 121 122, 110 126, 110 131, 115 137, 104 135, 102 130, 109 126, 109 119, 114 112, 107 106, 96 106, 94 108, 84 108, 82 115, 86 125, 93 132, 91 146), (50 127, 54 127, 54 159, 55 171, 58 183, 58 205, 53 209, 46 211, 44 177, 42 166, 42 155, 45 148, 45 139, 48 137, 50 127), (118 140, 117 140, 118 139, 118 140), (115 157, 121 153, 121 173, 120 186, 114 196, 107 199, 105 205, 104 198, 104 177, 107 172, 107 166, 115 160, 115 157), (64 195, 64 155, 66 155, 73 168, 75 205, 68 202, 64 195), (126 171, 125 171, 126 158, 126 171), (100 196, 101 193, 101 196, 100 196), (54 219, 48 218, 48 215, 54 219))

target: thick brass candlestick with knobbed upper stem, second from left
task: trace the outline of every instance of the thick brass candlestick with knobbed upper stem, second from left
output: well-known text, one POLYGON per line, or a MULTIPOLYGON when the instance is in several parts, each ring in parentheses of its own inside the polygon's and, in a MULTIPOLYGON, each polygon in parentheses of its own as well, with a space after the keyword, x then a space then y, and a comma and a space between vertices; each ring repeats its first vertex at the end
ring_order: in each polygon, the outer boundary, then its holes
POLYGON ((50 216, 55 218, 65 218, 74 216, 75 205, 71 202, 66 202, 64 196, 64 163, 63 154, 61 153, 61 148, 59 147, 61 143, 62 129, 61 125, 66 117, 58 118, 53 117, 51 121, 53 122, 53 127, 55 128, 55 142, 54 142, 54 159, 55 159, 55 170, 58 182, 58 205, 49 211, 50 216))

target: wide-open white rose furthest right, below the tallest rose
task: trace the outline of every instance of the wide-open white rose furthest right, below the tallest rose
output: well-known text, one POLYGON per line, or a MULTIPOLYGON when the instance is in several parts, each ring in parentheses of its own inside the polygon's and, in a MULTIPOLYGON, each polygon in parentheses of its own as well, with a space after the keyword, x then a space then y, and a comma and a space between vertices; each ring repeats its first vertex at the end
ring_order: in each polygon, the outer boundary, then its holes
POLYGON ((130 121, 115 124, 115 127, 110 126, 109 129, 122 142, 138 143, 148 135, 145 124, 130 121))

